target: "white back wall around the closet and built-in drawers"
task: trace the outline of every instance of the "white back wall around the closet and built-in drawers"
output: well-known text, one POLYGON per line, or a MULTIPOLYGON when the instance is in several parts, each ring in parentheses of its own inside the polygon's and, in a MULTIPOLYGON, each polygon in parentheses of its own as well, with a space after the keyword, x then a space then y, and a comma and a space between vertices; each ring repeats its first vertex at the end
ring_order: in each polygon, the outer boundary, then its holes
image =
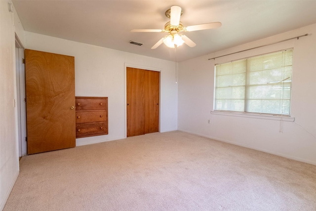
POLYGON ((76 96, 107 96, 109 134, 78 138, 77 146, 125 137, 125 65, 160 72, 160 132, 177 129, 175 63, 25 32, 26 48, 75 56, 76 96))

